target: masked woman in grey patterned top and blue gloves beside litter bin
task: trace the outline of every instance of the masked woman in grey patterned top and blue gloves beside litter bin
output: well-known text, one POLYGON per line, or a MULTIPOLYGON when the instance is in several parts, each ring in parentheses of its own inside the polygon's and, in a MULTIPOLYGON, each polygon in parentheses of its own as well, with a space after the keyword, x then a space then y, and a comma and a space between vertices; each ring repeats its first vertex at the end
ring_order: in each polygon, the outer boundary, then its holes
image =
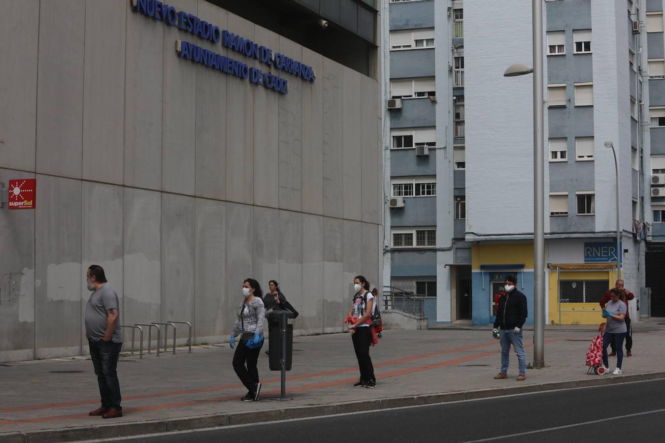
POLYGON ((265 307, 261 300, 261 286, 253 278, 243 282, 243 300, 238 306, 238 318, 233 326, 229 346, 235 346, 235 337, 240 340, 233 354, 233 369, 247 388, 247 395, 241 400, 256 401, 261 392, 259 370, 256 367, 263 346, 263 322, 265 307), (245 366, 246 365, 246 366, 245 366))

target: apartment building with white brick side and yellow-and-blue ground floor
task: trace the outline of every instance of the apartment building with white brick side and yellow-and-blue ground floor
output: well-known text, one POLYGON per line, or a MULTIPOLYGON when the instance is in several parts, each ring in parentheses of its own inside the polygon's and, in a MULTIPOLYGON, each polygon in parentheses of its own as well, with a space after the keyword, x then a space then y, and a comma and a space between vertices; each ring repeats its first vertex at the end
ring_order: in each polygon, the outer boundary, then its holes
MULTIPOLYGON (((648 180, 654 161, 660 161, 651 156, 646 130, 648 69, 656 66, 642 54, 652 56, 649 23, 656 19, 644 6, 636 0, 545 1, 545 320, 550 324, 599 323, 600 296, 617 278, 637 296, 644 294, 645 246, 658 231, 649 230, 648 180)), ((656 29, 662 47, 660 14, 656 29)), ((515 62, 532 64, 531 21, 530 2, 465 7, 466 144, 471 146, 466 240, 473 244, 478 324, 495 318, 494 297, 507 274, 517 275, 529 300, 529 321, 533 315, 533 78, 502 75, 515 62)), ((633 318, 639 317, 637 306, 631 303, 633 318)))

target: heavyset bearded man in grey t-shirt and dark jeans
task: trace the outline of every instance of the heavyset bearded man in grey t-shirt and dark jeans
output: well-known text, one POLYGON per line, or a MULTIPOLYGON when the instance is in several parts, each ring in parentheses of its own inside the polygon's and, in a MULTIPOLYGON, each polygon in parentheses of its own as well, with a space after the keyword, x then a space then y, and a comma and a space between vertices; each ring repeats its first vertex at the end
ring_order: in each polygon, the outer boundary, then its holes
POLYGON ((122 349, 118 294, 106 282, 104 269, 96 264, 88 268, 86 284, 92 294, 85 309, 85 335, 102 397, 102 406, 91 411, 90 415, 122 417, 120 382, 116 372, 122 349))

